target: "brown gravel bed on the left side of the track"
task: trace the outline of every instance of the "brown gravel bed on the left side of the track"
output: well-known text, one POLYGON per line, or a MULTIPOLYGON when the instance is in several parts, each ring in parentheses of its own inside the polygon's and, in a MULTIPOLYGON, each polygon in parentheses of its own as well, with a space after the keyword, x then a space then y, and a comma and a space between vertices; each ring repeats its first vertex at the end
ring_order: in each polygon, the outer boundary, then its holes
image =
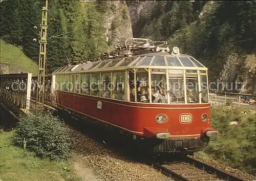
POLYGON ((72 130, 75 140, 76 153, 83 156, 86 165, 91 166, 95 174, 108 181, 148 180, 163 181, 173 180, 143 163, 131 161, 102 144, 87 137, 79 131, 72 130))

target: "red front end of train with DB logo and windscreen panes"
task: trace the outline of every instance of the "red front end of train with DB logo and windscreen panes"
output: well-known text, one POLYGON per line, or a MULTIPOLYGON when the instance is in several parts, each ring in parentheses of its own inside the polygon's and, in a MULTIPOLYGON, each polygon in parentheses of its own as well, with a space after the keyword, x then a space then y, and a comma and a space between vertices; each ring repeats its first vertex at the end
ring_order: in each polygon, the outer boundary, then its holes
MULTIPOLYGON (((189 154, 203 150, 218 131, 210 124, 207 68, 175 49, 172 55, 159 53, 152 57, 151 66, 162 59, 168 67, 148 69, 150 106, 138 108, 136 120, 143 120, 143 137, 154 152, 189 154)), ((138 82, 147 77, 138 69, 136 79, 138 82)), ((142 102, 144 97, 137 94, 138 87, 136 95, 142 102)))

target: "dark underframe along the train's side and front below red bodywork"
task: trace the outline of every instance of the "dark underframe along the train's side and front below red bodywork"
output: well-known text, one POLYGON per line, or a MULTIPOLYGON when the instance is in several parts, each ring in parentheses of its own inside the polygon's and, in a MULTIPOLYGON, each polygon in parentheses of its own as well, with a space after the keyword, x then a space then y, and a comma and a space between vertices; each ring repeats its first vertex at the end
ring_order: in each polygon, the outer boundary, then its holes
POLYGON ((68 114, 73 118, 77 118, 80 121, 86 121, 105 128, 111 134, 108 135, 112 141, 116 141, 118 144, 126 144, 133 147, 135 150, 140 149, 146 152, 154 154, 184 154, 193 155, 194 152, 202 151, 209 143, 209 137, 206 135, 200 138, 180 138, 180 139, 157 139, 147 138, 142 135, 136 135, 131 132, 124 131, 115 126, 102 123, 90 117, 86 117, 74 110, 67 109, 65 107, 58 106, 60 114, 68 114))

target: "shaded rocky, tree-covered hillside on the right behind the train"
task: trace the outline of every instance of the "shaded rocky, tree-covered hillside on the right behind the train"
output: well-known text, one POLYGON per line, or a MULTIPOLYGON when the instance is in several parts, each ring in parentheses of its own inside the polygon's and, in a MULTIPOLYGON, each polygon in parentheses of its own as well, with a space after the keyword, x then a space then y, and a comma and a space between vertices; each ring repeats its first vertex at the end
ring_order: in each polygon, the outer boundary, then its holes
MULTIPOLYGON (((209 68, 210 81, 240 82, 240 92, 255 90, 255 1, 139 1, 129 4, 133 35, 167 40, 209 68)), ((216 87, 212 87, 216 88, 216 87)))

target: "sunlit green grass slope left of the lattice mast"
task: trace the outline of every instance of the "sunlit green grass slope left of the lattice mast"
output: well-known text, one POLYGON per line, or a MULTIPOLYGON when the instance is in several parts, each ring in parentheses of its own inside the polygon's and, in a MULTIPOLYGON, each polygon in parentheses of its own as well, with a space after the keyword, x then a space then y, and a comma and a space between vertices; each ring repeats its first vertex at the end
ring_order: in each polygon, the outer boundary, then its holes
MULTIPOLYGON (((10 65, 18 66, 29 73, 32 76, 37 75, 37 64, 28 58, 20 48, 13 46, 12 44, 6 43, 3 39, 0 39, 1 52, 0 62, 8 63, 10 65)), ((39 50, 38 50, 39 51, 39 50)))

